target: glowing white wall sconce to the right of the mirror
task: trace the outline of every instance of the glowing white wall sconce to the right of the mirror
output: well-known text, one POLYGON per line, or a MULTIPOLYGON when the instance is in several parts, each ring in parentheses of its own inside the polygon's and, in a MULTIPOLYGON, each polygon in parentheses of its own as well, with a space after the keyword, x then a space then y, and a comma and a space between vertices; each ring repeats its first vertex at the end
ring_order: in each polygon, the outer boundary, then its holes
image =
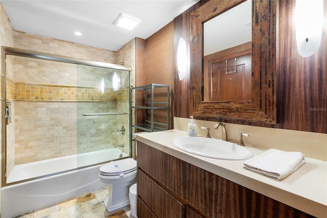
POLYGON ((323 25, 323 0, 296 0, 295 33, 298 53, 313 55, 320 46, 323 25))

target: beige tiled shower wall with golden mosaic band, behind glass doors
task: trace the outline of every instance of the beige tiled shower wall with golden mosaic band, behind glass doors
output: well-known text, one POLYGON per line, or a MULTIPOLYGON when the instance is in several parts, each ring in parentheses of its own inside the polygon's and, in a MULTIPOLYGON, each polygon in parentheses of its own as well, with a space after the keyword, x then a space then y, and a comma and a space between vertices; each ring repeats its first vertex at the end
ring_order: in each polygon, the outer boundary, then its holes
POLYGON ((26 57, 10 59, 14 61, 14 81, 8 79, 7 96, 15 104, 15 164, 120 144, 128 147, 128 72, 26 57), (118 91, 112 90, 113 72, 121 75, 122 87, 118 91), (103 92, 99 88, 102 79, 103 92), (124 102, 120 104, 124 107, 119 108, 118 102, 124 102), (107 112, 126 115, 83 116, 107 112), (126 134, 118 135, 123 125, 126 134))

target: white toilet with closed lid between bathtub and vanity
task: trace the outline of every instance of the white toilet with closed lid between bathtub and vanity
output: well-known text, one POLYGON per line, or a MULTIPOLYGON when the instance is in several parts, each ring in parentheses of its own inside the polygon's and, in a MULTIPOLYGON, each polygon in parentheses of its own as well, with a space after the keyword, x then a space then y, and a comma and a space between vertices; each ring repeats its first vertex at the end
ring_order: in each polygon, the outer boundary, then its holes
POLYGON ((136 161, 132 158, 111 161, 100 167, 99 178, 111 191, 104 200, 108 212, 129 205, 129 188, 136 183, 136 161))

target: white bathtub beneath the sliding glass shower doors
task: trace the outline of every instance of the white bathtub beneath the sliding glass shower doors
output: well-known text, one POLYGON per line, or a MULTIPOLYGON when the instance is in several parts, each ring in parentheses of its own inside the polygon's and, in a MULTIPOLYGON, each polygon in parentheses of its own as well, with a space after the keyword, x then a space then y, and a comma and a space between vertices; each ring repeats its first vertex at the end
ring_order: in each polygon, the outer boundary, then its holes
POLYGON ((14 167, 8 177, 11 182, 49 175, 58 171, 75 170, 2 188, 1 217, 14 217, 104 188, 105 184, 98 177, 99 168, 104 164, 78 170, 76 168, 119 159, 120 155, 128 157, 119 148, 110 148, 14 167), (20 179, 19 176, 21 176, 20 179))

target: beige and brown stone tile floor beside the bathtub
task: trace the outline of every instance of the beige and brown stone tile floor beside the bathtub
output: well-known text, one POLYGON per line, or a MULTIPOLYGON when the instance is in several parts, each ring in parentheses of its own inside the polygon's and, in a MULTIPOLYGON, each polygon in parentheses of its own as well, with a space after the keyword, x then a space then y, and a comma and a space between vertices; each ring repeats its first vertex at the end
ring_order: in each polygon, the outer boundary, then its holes
POLYGON ((106 187, 15 218, 132 218, 129 205, 123 209, 108 213, 103 203, 108 194, 108 189, 106 187))

